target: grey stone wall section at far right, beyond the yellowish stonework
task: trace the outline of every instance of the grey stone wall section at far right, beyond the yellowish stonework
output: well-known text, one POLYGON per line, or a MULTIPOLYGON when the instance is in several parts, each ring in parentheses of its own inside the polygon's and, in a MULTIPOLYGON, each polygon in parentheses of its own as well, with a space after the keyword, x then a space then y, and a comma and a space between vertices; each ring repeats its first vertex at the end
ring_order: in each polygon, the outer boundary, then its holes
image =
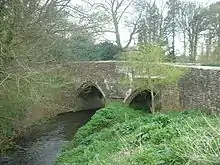
POLYGON ((182 108, 220 111, 220 68, 190 68, 180 80, 179 89, 182 108))

